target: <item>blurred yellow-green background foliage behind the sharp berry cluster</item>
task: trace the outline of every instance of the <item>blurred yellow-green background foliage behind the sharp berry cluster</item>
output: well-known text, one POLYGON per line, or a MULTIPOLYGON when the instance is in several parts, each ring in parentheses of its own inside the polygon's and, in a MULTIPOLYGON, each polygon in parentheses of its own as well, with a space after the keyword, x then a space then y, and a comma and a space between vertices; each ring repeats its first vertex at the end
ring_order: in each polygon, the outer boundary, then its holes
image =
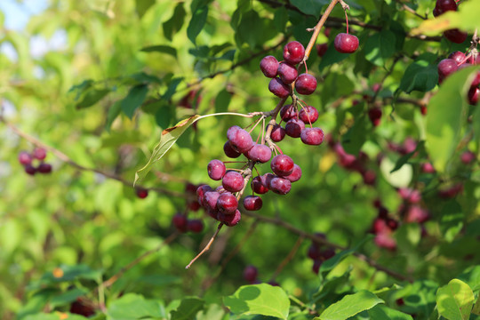
MULTIPOLYGON (((28 9, 28 1, 17 3, 28 9)), ((277 99, 268 92, 268 79, 258 68, 260 60, 268 54, 280 60, 287 40, 308 43, 306 28, 315 26, 328 4, 315 3, 307 8, 299 1, 52 0, 19 30, 5 27, 3 21, 11 17, 0 12, 2 319, 68 311, 71 302, 84 294, 107 306, 127 292, 165 305, 190 295, 221 305, 222 296, 246 284, 242 272, 247 265, 259 269, 261 282, 275 280, 298 299, 311 298, 320 280, 307 257, 310 241, 303 241, 276 275, 299 235, 248 215, 235 228, 223 229, 211 253, 185 270, 216 228, 216 221, 203 211, 188 215, 204 220, 204 232, 180 235, 106 292, 96 295, 92 289, 174 232, 172 216, 187 208, 187 184, 209 183, 206 165, 214 158, 225 159, 222 146, 228 127, 246 126, 249 121, 217 116, 190 127, 140 181, 147 188, 180 196, 150 190, 147 198, 140 199, 132 187, 134 173, 147 162, 162 130, 194 114, 275 108, 277 99), (34 140, 20 137, 7 123, 83 168, 48 152, 45 161, 52 164, 52 173, 29 176, 17 158, 21 150, 35 148, 34 140), (100 172, 121 177, 125 183, 100 172), (238 252, 221 268, 237 245, 241 245, 238 252), (49 275, 56 268, 76 276, 55 282, 49 275), (72 292, 72 287, 79 291, 72 292)), ((308 70, 319 86, 305 100, 319 109, 318 125, 333 140, 342 141, 348 153, 358 155, 362 150, 376 182, 364 183, 361 174, 342 167, 326 142, 309 147, 287 138, 280 146, 300 164, 303 177, 286 196, 263 196, 259 214, 308 234, 323 232, 332 243, 352 247, 367 237, 377 217, 375 200, 402 220, 397 188, 418 188, 431 219, 421 227, 401 223, 396 251, 379 248, 372 238, 360 251, 405 276, 438 285, 480 259, 478 161, 469 167, 460 162, 466 149, 478 159, 480 119, 478 108, 462 102, 466 117, 474 121, 464 119, 459 124, 452 152, 439 160, 446 163, 441 172, 421 172, 421 165, 430 161, 421 143, 417 153, 406 159, 388 148, 409 139, 416 143, 426 139, 420 105, 428 92, 437 90, 436 63, 469 45, 468 41, 452 44, 441 36, 427 41, 409 36, 421 19, 403 10, 403 3, 349 1, 350 30, 360 39, 360 50, 349 56, 332 48, 334 36, 345 28, 338 5, 327 23, 331 35, 322 33, 317 41, 328 43, 328 51, 322 59, 312 52, 308 60, 308 70), (415 80, 405 72, 414 62, 420 63, 425 78, 415 80), (373 91, 373 84, 381 85, 379 92, 373 91), (373 100, 383 111, 377 127, 368 121, 373 100), (392 176, 389 171, 399 161, 404 166, 392 176), (455 183, 463 185, 460 195, 439 198, 439 188, 455 183), (421 236, 422 230, 428 236, 421 236)), ((431 12, 435 1, 413 3, 408 5, 421 14, 431 12)), ((436 108, 442 112, 453 107, 447 99, 436 108)), ((267 172, 268 164, 263 166, 267 172)), ((332 276, 345 273, 350 276, 338 287, 339 294, 398 283, 353 256, 332 276)))

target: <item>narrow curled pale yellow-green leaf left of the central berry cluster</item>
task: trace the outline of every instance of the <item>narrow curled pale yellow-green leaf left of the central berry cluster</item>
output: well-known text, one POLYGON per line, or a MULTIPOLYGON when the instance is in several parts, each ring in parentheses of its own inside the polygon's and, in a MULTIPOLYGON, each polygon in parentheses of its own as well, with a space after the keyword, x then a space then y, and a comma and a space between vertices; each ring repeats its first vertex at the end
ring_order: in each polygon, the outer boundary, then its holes
POLYGON ((147 173, 152 169, 152 166, 159 161, 165 153, 170 150, 170 148, 172 148, 173 144, 180 138, 183 132, 185 132, 188 127, 199 118, 200 116, 198 115, 190 116, 189 118, 180 121, 180 123, 172 128, 165 129, 164 132, 162 132, 162 137, 154 148, 152 156, 148 159, 148 163, 139 171, 135 172, 135 181, 133 182, 133 185, 135 185, 137 181, 145 178, 147 173))

